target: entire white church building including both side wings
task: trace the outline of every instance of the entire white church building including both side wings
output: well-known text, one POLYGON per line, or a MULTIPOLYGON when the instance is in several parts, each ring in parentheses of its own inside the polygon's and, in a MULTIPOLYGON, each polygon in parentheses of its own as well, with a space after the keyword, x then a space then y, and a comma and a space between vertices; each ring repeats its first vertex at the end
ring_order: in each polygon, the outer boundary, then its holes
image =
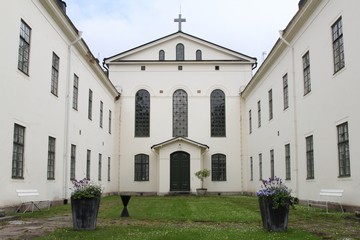
POLYGON ((301 0, 256 58, 181 30, 104 59, 61 0, 14 0, 1 15, 0 207, 17 189, 255 193, 279 176, 300 200, 344 190, 360 206, 357 0, 301 0))

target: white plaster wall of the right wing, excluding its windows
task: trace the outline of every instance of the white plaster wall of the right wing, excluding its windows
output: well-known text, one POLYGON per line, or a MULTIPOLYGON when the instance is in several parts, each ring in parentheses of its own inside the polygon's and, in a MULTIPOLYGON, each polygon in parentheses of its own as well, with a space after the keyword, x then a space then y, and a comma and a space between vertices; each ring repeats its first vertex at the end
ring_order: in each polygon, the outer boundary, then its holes
MULTIPOLYGON (((358 71, 356 52, 359 49, 359 34, 356 30, 355 11, 358 1, 323 1, 306 24, 297 33, 294 46, 295 80, 291 77, 291 51, 288 48, 275 62, 270 71, 249 92, 245 99, 246 119, 252 110, 253 133, 248 134, 248 123, 244 124, 248 149, 245 162, 254 159, 254 181, 247 182, 249 191, 260 188, 258 182, 258 154, 263 153, 263 177, 270 175, 270 149, 275 151, 275 175, 285 178, 285 148, 291 145, 292 179, 287 184, 300 199, 318 199, 322 188, 344 189, 343 203, 358 205, 359 188, 358 142, 359 113, 356 111, 358 71), (345 68, 333 74, 331 26, 342 16, 345 45, 345 68), (315 37, 316 36, 316 37, 315 37), (311 92, 304 96, 302 56, 310 52, 311 92), (283 111, 282 77, 288 73, 289 104, 283 111), (296 85, 294 85, 294 82, 296 85), (295 90, 294 90, 295 87, 295 90), (274 119, 268 121, 268 90, 273 89, 274 119), (295 93, 295 95, 294 95, 295 93), (294 112, 296 96, 296 112, 294 112), (257 127, 257 101, 262 103, 262 127, 257 127), (294 121, 296 117, 296 122, 294 121), (336 126, 349 124, 351 177, 338 177, 338 149, 336 126), (295 128, 297 137, 295 136, 295 128), (279 135, 277 134, 279 132, 279 135), (315 179, 306 180, 305 137, 314 136, 315 179), (298 146, 296 148, 296 146, 298 146), (297 159, 297 161, 296 161, 297 159), (298 169, 298 171, 297 171, 298 169), (297 177, 298 172, 298 177, 297 177)), ((249 176, 248 176, 248 179, 249 176)))

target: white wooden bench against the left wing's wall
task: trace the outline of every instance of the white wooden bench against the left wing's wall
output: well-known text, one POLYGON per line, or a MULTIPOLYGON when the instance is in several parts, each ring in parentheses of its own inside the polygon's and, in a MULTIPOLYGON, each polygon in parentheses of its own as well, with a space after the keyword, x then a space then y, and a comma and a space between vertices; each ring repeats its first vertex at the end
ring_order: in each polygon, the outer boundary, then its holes
POLYGON ((34 209, 40 209, 40 204, 46 202, 47 209, 50 208, 49 200, 39 200, 39 191, 37 189, 17 189, 16 193, 21 201, 21 205, 17 208, 16 212, 19 212, 22 207, 25 208, 24 212, 27 212, 31 209, 31 212, 34 212, 34 209))

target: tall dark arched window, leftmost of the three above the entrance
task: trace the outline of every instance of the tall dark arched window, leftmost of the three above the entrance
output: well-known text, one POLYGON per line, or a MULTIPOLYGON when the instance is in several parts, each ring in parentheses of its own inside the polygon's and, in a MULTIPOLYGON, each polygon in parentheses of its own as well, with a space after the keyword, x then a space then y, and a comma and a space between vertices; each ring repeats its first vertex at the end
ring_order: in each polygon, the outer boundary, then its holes
POLYGON ((135 95, 135 137, 150 136, 150 94, 142 89, 135 95))

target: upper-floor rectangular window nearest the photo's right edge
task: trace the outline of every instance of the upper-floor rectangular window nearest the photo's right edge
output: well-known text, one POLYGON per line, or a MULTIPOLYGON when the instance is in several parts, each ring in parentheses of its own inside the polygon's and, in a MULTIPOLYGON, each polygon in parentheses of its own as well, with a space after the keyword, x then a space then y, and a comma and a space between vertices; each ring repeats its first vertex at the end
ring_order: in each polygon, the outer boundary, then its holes
POLYGON ((344 37, 341 17, 334 23, 334 25, 332 25, 331 29, 334 52, 334 72, 337 73, 345 67, 344 37))

